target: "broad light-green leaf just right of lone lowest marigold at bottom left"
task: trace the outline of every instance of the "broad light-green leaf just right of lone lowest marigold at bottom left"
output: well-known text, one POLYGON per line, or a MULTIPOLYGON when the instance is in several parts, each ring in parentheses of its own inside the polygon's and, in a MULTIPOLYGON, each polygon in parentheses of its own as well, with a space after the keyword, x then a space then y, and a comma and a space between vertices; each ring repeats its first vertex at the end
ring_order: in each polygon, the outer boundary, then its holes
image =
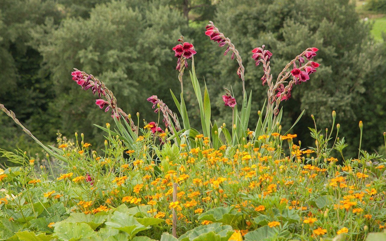
POLYGON ((95 232, 87 224, 71 223, 71 222, 58 222, 55 224, 54 236, 58 236, 63 241, 74 241, 81 238, 87 238, 93 235, 95 232))

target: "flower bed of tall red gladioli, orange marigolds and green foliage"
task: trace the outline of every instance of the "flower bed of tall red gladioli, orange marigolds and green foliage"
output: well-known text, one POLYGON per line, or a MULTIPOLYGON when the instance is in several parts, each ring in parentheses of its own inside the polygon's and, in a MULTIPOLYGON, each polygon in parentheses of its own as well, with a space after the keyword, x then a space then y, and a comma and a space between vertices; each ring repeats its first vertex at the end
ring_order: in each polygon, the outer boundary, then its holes
MULTIPOLYGON (((317 71, 311 59, 318 49, 296 56, 276 81, 269 67, 273 54, 264 45, 252 50, 264 70, 267 100, 251 130, 252 93, 245 89, 242 58, 212 22, 205 34, 239 65, 234 75, 241 80, 242 99, 229 89, 222 96, 231 125, 211 120, 207 87, 195 73, 196 51, 182 36, 173 48, 181 94, 171 95, 178 115, 153 95, 148 101, 158 120, 140 121, 139 114, 133 120, 103 81, 72 72, 73 81, 98 96, 95 104, 112 112, 113 125, 95 127, 104 131, 104 148, 93 149, 98 143, 78 133, 74 140, 59 136, 57 145, 45 146, 0 104, 47 152, 47 160, 35 160, 20 150, 1 151, 18 166, 0 170, 0 239, 384 240, 385 159, 361 150, 361 144, 357 158, 346 158, 335 111, 330 129, 318 129, 315 121, 309 128, 312 147, 303 147, 280 125, 280 104, 317 71), (186 111, 188 67, 202 131, 190 126, 186 111)), ((362 137, 362 121, 359 131, 362 137)))

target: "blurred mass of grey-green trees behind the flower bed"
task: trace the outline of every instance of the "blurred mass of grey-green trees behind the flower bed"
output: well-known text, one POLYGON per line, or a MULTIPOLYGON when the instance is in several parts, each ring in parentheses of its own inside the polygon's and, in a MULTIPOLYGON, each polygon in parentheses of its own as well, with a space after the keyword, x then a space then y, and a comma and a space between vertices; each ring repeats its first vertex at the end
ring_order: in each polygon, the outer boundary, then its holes
MULTIPOLYGON (((251 50, 265 44, 273 52, 275 74, 307 47, 317 47, 322 66, 283 104, 283 128, 306 110, 293 133, 303 146, 312 145, 310 115, 318 128, 330 128, 336 110, 348 155, 357 153, 359 120, 362 147, 384 152, 379 147, 386 131, 386 45, 373 39, 371 24, 349 0, 0 0, 0 103, 45 143, 54 143, 60 130, 69 138, 75 131, 85 133, 93 147, 103 145, 102 132, 92 124, 104 125, 111 117, 95 106, 90 90, 71 80, 72 68, 104 81, 127 113, 154 121, 147 97, 156 94, 175 110, 169 89, 178 92, 179 83, 171 48, 182 34, 198 52, 196 71, 208 84, 213 117, 229 123, 222 87, 232 87, 240 99, 237 63, 205 36, 208 20, 244 57, 246 87, 256 107, 252 125, 266 88, 251 50)), ((198 116, 190 79, 184 78, 190 116, 198 116)), ((0 125, 0 148, 42 153, 3 113, 0 125)))

